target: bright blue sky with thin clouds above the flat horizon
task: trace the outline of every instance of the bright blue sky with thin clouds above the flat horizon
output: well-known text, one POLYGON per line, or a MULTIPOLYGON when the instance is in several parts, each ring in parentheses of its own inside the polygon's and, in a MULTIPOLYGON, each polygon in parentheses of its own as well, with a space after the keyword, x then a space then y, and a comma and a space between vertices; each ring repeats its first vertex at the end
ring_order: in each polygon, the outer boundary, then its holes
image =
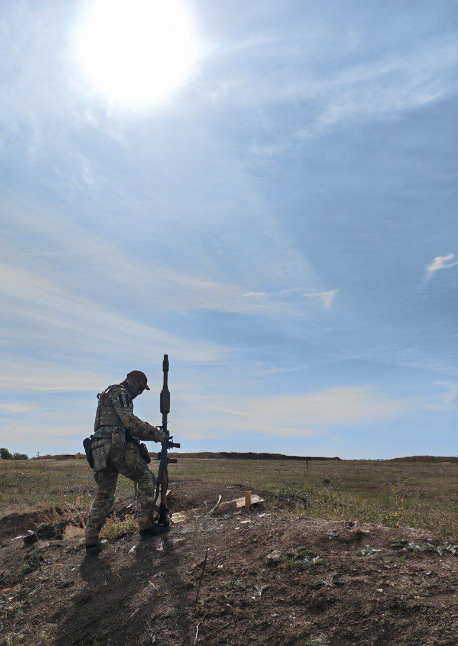
POLYGON ((457 455, 455 0, 128 4, 0 3, 0 445, 457 455))

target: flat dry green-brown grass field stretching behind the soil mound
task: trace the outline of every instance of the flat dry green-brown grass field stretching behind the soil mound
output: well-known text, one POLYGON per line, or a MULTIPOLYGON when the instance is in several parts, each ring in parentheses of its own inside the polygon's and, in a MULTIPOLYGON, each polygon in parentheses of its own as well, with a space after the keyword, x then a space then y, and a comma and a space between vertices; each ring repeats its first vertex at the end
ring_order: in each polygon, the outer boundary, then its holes
MULTIPOLYGON (((152 461, 156 470, 157 461, 152 461)), ((326 462, 180 459, 173 480, 241 484, 297 503, 297 515, 425 528, 458 536, 458 464, 432 461, 326 462)), ((31 508, 87 510, 96 485, 84 460, 0 461, 0 516, 31 508)), ((118 498, 133 493, 120 477, 118 498)), ((117 521, 120 523, 121 521, 117 521)), ((124 521, 123 521, 124 522, 124 521)), ((129 521, 128 521, 129 522, 129 521)), ((133 521, 132 521, 133 522, 133 521)), ((116 526, 113 532, 122 532, 116 526)))

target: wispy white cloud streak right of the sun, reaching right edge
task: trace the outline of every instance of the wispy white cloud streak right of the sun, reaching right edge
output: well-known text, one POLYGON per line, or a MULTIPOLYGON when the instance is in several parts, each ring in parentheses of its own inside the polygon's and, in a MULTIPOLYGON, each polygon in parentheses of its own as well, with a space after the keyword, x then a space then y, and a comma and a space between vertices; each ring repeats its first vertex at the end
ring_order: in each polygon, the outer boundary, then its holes
MULTIPOLYGON (((313 38, 303 42, 310 45, 293 48, 290 53, 294 61, 300 60, 301 55, 307 61, 313 59, 313 46, 320 47, 313 38)), ((453 91, 450 78, 458 63, 458 48, 446 38, 377 58, 371 52, 370 60, 356 63, 355 45, 349 42, 347 50, 339 52, 341 60, 348 62, 338 67, 322 57, 320 51, 318 65, 297 67, 291 61, 289 67, 282 65, 280 70, 275 65, 272 69, 267 66, 264 75, 256 70, 255 78, 244 74, 218 79, 211 92, 212 100, 244 107, 304 101, 307 106, 304 125, 290 134, 297 140, 307 140, 355 118, 399 116, 453 91)), ((253 154, 269 157, 284 151, 285 145, 285 138, 276 136, 272 141, 252 143, 251 149, 253 154)))

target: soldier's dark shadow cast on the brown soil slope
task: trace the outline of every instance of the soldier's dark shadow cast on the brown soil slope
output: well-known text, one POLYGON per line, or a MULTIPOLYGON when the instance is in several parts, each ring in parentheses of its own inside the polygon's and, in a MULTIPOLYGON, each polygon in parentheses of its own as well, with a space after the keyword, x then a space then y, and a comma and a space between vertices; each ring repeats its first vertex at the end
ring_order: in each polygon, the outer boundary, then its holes
MULTIPOLYGON (((161 594, 173 592, 173 605, 185 614, 187 598, 176 573, 178 557, 173 554, 169 535, 163 539, 163 550, 158 551, 161 540, 156 537, 138 543, 134 554, 128 553, 125 544, 115 543, 99 556, 84 557, 79 571, 86 585, 74 596, 67 612, 53 618, 59 625, 56 644, 151 643, 157 588, 161 594)), ((187 643, 187 621, 184 616, 176 620, 181 625, 176 628, 182 633, 182 643, 187 643)))

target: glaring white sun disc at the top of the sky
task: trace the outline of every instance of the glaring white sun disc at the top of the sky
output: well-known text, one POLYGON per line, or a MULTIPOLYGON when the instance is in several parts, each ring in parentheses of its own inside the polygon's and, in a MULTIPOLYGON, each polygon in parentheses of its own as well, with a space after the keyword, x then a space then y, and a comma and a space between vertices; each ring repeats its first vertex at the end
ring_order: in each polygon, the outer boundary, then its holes
POLYGON ((110 103, 156 103, 188 78, 193 21, 180 0, 94 0, 77 32, 79 64, 110 103))

